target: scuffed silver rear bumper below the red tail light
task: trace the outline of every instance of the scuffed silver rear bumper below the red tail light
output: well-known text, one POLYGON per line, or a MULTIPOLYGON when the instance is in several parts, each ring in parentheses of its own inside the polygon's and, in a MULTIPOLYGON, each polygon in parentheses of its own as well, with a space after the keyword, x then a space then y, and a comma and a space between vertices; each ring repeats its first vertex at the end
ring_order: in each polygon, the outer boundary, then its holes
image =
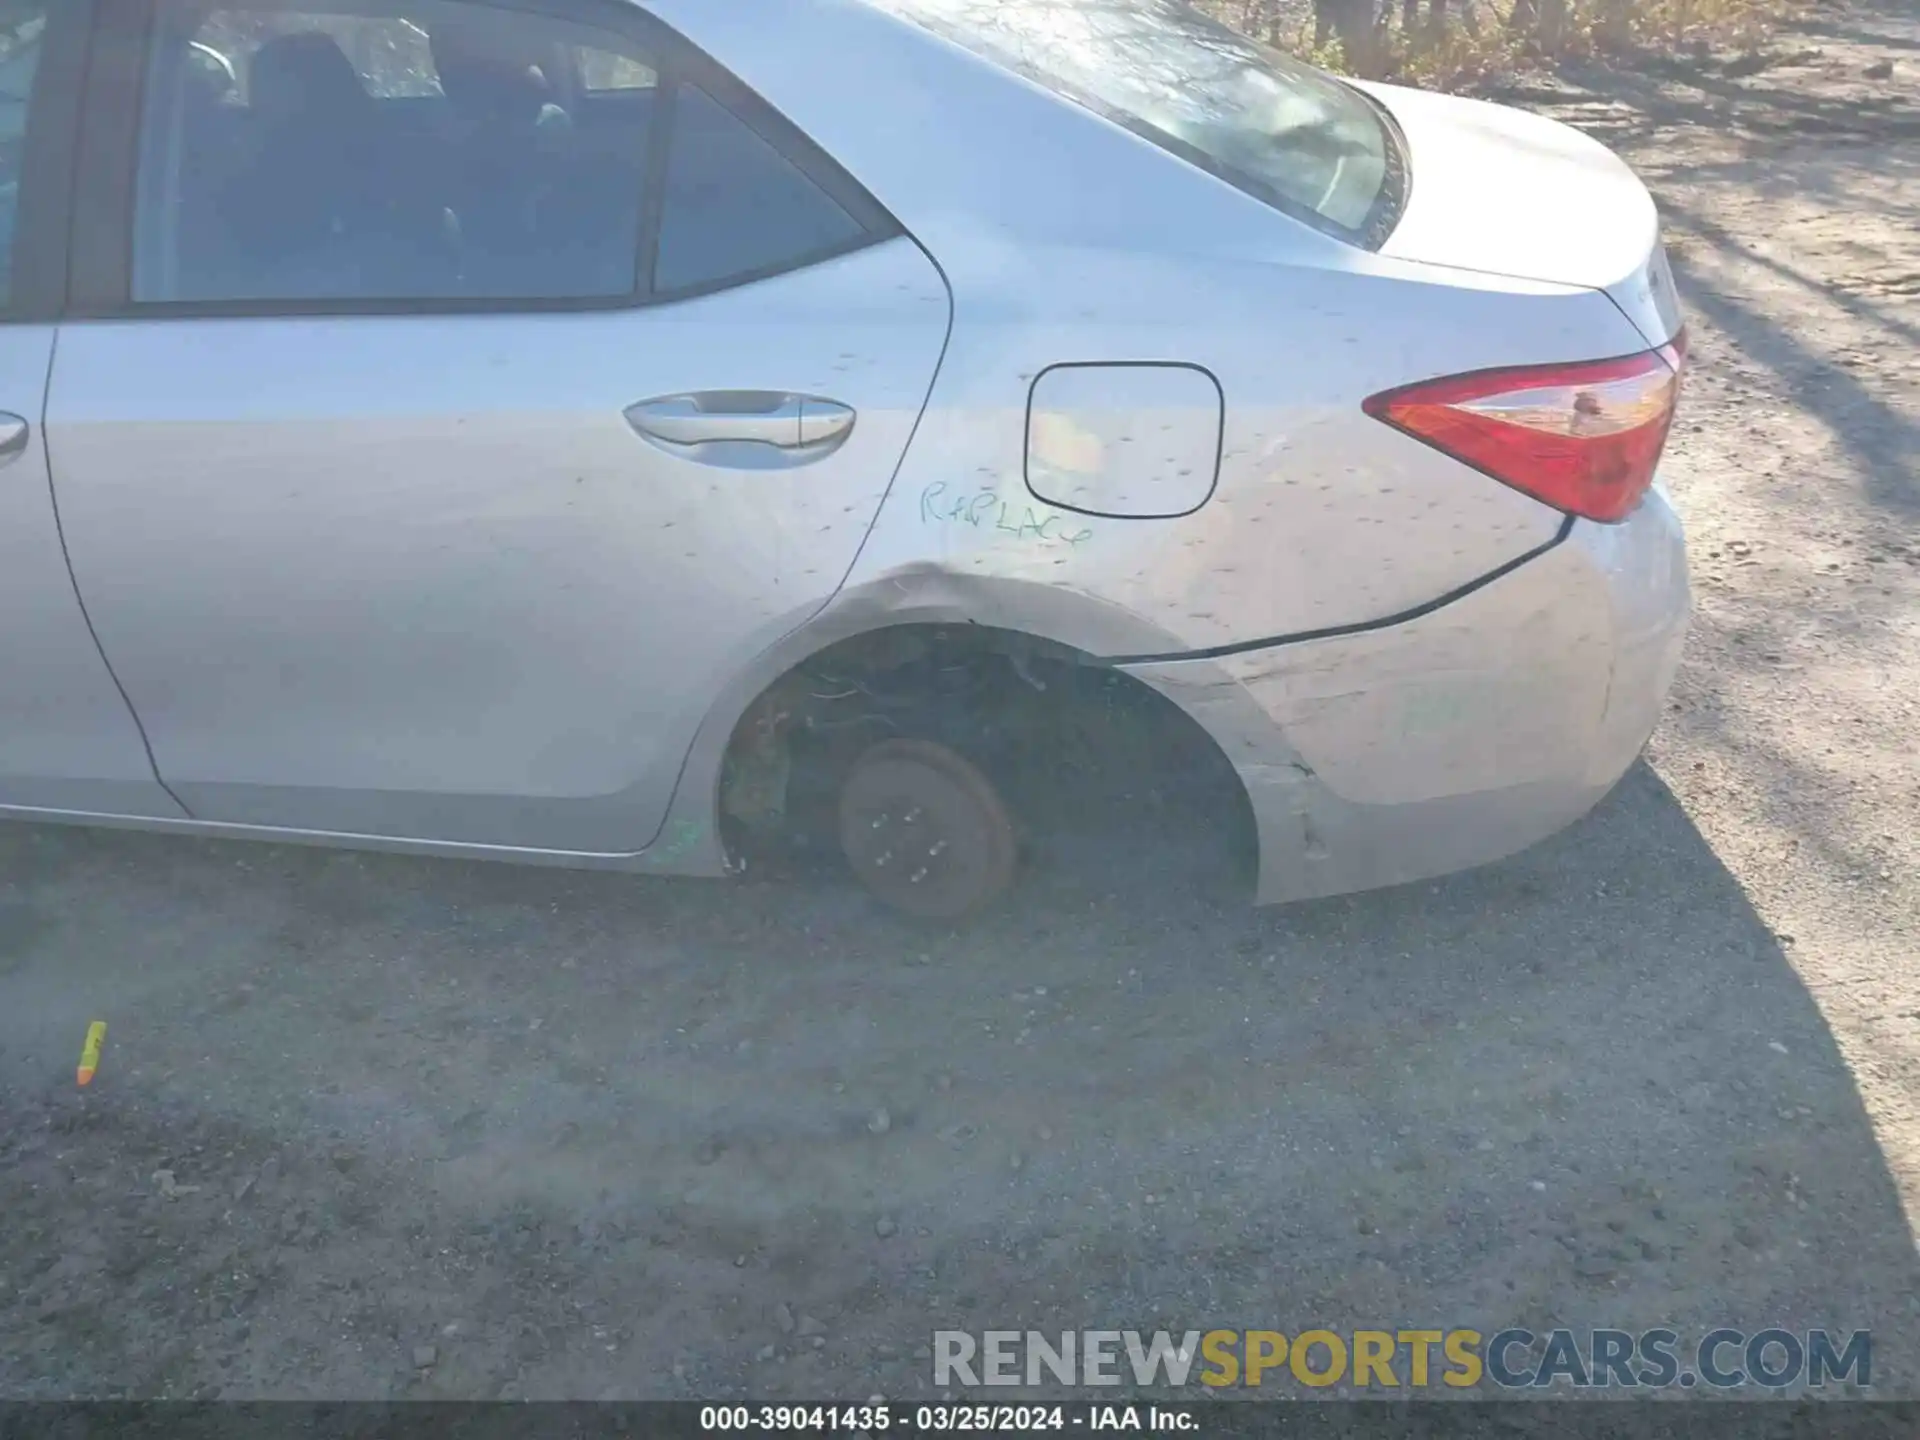
POLYGON ((1240 774, 1269 904, 1486 864, 1578 820, 1653 732, 1688 614, 1655 490, 1417 620, 1131 672, 1240 774))

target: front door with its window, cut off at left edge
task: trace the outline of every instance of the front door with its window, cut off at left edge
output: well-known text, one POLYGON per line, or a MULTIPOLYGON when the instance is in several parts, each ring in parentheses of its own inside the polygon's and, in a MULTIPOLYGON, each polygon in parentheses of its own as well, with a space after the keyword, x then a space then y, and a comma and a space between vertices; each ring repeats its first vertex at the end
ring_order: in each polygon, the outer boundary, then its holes
POLYGON ((86 19, 0 4, 0 808, 179 816, 73 593, 40 426, 86 19))

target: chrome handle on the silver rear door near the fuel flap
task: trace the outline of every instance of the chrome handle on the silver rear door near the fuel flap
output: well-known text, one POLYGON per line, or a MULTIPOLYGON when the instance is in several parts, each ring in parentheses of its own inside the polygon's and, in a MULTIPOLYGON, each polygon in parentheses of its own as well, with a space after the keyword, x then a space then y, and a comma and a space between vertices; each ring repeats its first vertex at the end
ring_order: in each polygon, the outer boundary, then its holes
POLYGON ((778 390, 703 390, 626 409, 626 420, 668 455, 733 468, 804 465, 839 449, 854 413, 837 401, 778 390))

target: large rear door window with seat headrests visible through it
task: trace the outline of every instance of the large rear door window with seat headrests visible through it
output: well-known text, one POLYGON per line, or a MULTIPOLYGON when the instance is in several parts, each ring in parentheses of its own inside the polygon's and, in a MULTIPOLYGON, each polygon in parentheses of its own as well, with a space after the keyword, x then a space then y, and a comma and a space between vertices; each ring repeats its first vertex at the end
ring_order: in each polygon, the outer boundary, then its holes
POLYGON ((455 0, 157 10, 134 301, 634 294, 657 67, 628 38, 455 0))

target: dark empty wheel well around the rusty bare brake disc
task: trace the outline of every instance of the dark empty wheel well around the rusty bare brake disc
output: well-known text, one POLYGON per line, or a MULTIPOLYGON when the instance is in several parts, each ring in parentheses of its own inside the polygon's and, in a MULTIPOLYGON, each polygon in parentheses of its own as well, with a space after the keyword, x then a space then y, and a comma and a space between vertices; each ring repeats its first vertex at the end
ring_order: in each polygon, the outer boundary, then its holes
POLYGON ((747 707, 720 766, 728 852, 756 868, 837 864, 839 780, 897 737, 939 741, 985 770, 1029 851, 1064 856, 1075 839, 1142 822, 1198 822, 1238 858, 1254 849, 1238 776, 1160 691, 1035 636, 900 624, 816 651, 747 707))

